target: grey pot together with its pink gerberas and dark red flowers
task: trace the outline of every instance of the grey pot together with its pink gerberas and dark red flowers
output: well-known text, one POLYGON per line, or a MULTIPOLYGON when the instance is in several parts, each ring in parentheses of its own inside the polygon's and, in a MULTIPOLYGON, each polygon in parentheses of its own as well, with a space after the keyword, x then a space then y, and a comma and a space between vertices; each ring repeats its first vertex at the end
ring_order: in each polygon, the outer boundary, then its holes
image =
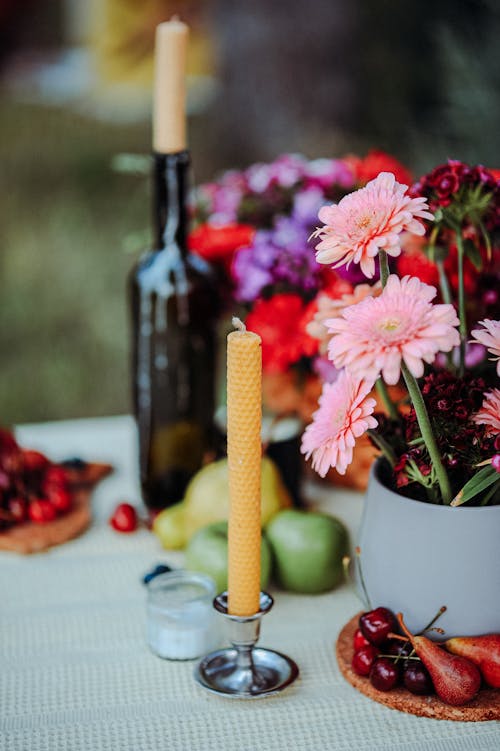
POLYGON ((323 207, 314 232, 320 263, 359 263, 380 286, 322 317, 337 372, 302 451, 324 475, 346 471, 364 433, 381 450, 357 579, 368 606, 404 613, 413 631, 440 606, 447 635, 500 630, 499 199, 482 167, 449 162, 411 190, 382 172, 323 207), (387 387, 401 381, 394 402, 387 387))

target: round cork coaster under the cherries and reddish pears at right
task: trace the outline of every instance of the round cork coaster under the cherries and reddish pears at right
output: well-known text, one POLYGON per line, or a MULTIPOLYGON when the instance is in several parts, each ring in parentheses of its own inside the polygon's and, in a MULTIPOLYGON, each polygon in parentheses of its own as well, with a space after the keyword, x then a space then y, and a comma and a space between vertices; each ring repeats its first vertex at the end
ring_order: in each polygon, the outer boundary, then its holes
POLYGON ((400 712, 407 712, 419 717, 432 717, 435 720, 458 720, 461 722, 480 722, 500 719, 500 690, 483 688, 474 701, 462 707, 452 707, 436 696, 416 696, 405 688, 393 688, 391 691, 377 691, 368 678, 363 678, 351 667, 353 655, 353 637, 358 627, 360 613, 346 623, 337 639, 336 654, 340 672, 344 678, 365 696, 380 704, 385 704, 400 712))

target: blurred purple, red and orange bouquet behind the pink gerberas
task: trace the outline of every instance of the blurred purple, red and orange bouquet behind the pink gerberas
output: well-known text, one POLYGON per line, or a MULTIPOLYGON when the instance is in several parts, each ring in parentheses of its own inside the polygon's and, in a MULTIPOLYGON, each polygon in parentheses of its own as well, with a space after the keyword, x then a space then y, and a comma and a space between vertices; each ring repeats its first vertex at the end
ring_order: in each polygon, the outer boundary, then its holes
MULTIPOLYGON (((327 332, 320 319, 333 315, 332 308, 340 314, 371 290, 366 283, 356 286, 366 282, 359 264, 334 271, 316 262, 308 238, 318 210, 383 169, 411 180, 399 162, 380 151, 315 160, 285 154, 226 172, 193 195, 191 249, 220 270, 231 314, 239 306, 240 317, 260 334, 264 404, 275 415, 310 421, 323 379, 336 373, 326 357, 327 332)), ((358 442, 345 484, 365 487, 373 454, 368 439, 358 442)))

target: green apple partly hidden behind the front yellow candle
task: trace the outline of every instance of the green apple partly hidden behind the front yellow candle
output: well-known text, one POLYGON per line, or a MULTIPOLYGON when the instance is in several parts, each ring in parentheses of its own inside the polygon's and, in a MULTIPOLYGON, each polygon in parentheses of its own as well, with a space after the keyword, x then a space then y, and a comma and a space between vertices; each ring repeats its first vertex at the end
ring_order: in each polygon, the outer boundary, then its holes
MULTIPOLYGON (((215 580, 217 592, 227 589, 227 522, 214 522, 199 529, 186 548, 186 568, 201 571, 215 580)), ((260 586, 265 589, 271 572, 271 551, 262 537, 260 586)))

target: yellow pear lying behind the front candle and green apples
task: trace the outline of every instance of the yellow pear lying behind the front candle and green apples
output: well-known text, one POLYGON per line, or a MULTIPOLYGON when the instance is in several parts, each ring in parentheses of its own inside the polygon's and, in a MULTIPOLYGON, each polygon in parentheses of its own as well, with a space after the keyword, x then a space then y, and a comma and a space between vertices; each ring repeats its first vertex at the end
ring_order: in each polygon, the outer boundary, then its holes
MULTIPOLYGON (((292 505, 279 471, 271 459, 262 458, 262 526, 292 505)), ((198 529, 225 521, 229 516, 227 459, 206 464, 192 478, 181 503, 161 511, 153 524, 163 547, 185 547, 198 529)))

